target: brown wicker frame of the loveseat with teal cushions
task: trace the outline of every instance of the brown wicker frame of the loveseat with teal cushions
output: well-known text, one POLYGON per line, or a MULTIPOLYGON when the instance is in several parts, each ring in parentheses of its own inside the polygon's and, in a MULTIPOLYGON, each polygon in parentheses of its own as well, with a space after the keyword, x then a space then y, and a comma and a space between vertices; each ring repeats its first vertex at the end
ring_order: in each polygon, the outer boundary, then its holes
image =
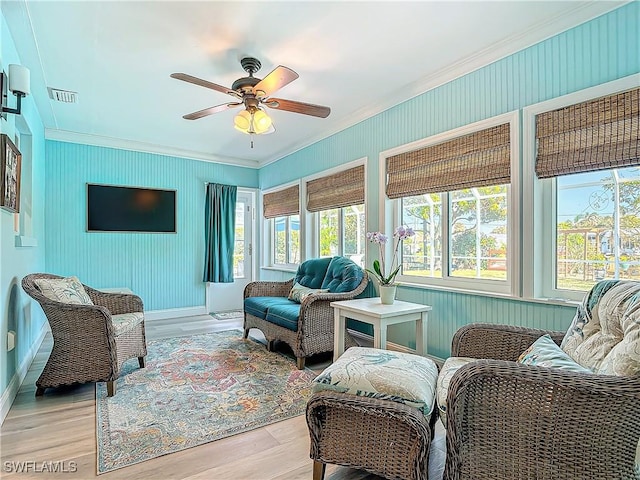
MULTIPOLYGON (((341 257, 333 257, 343 261, 341 257)), ((331 259, 319 259, 325 261, 324 270, 319 269, 321 274, 316 280, 318 286, 322 282, 327 269, 331 269, 329 264, 331 259)), ((307 260, 298 269, 296 278, 301 278, 301 269, 308 267, 318 260, 307 260)), ((355 264, 353 265, 355 267, 355 264)), ((359 269, 359 267, 357 267, 359 269)), ((339 272, 336 272, 339 274, 339 272)), ((286 282, 252 282, 249 283, 244 290, 245 310, 244 310, 244 338, 247 338, 251 328, 258 328, 262 331, 267 339, 268 350, 273 349, 275 341, 283 341, 287 343, 293 350, 297 359, 298 369, 304 368, 305 358, 317 353, 333 351, 333 324, 334 315, 331 302, 339 300, 351 300, 362 293, 369 281, 367 275, 360 273, 358 283, 353 290, 340 293, 316 293, 307 296, 300 304, 299 314, 297 316, 297 327, 295 330, 283 327, 269 320, 269 318, 260 318, 259 316, 247 311, 247 299, 250 297, 277 297, 284 299, 294 285, 296 278, 286 282)), ((352 347, 357 345, 355 339, 345 332, 345 346, 352 347)))

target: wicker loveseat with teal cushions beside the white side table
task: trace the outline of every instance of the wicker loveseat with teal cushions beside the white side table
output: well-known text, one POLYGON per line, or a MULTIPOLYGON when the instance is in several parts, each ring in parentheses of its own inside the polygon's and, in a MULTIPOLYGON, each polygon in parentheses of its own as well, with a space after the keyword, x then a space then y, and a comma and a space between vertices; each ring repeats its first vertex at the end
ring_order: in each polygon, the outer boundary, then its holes
MULTIPOLYGON (((367 282, 362 268, 345 257, 307 260, 287 282, 252 282, 244 290, 244 337, 258 328, 269 350, 277 340, 287 343, 303 369, 306 357, 333 350, 331 302, 356 297, 367 282)), ((345 345, 357 345, 348 332, 345 345)))

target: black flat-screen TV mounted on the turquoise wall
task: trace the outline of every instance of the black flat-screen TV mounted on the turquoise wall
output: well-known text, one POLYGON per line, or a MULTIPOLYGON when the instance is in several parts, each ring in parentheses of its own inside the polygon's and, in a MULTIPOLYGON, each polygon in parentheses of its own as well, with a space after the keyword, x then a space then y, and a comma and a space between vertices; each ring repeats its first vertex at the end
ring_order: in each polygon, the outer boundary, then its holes
POLYGON ((176 232, 176 191, 87 184, 89 232, 176 232))

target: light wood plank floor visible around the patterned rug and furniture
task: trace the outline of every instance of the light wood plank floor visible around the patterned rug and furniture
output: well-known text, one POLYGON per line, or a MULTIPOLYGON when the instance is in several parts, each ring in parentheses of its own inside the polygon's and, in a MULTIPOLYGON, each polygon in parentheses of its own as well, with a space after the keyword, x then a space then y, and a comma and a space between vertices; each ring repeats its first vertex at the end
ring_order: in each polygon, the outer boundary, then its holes
MULTIPOLYGON (((147 339, 194 335, 241 328, 238 320, 210 316, 147 322, 147 339)), ((260 332, 252 330, 258 340, 260 332)), ((45 338, 0 429, 0 477, 68 480, 96 478, 95 386, 49 389, 35 397, 35 381, 51 351, 45 338), (18 462, 35 462, 28 473, 16 473, 18 462), (61 462, 66 472, 42 472, 42 462, 61 462), (73 463, 71 463, 73 462, 73 463), (75 465, 75 468, 72 468, 75 465), (74 472, 68 470, 74 469, 74 472)), ((283 351, 283 353, 287 353, 283 351)), ((330 358, 308 362, 318 372, 330 358)), ((430 460, 430 478, 441 478, 444 430, 438 422, 430 460), (433 470, 433 471, 432 471, 433 470)), ((100 475, 101 479, 296 480, 312 478, 309 434, 304 415, 227 437, 182 452, 165 455, 100 475)), ((375 475, 327 466, 328 480, 373 480, 375 475)))

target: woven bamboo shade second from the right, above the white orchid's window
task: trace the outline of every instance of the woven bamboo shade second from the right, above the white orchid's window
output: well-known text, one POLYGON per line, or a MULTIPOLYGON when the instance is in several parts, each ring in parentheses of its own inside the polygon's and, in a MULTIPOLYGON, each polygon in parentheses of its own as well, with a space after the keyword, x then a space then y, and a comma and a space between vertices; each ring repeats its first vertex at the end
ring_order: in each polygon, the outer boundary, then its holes
POLYGON ((387 197, 511 182, 509 124, 387 158, 387 197))

